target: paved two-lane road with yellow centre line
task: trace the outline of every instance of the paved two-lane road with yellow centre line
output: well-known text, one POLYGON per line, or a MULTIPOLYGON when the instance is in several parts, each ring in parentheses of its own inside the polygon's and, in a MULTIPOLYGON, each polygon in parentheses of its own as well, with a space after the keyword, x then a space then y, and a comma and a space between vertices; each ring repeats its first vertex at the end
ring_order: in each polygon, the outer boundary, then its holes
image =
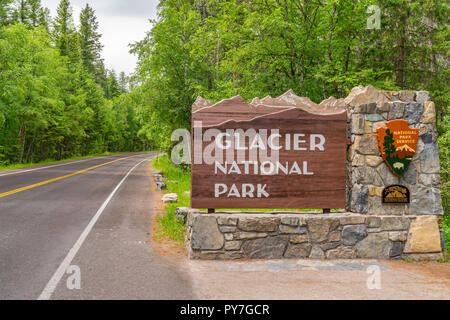
POLYGON ((182 273, 148 241, 147 160, 156 155, 0 172, 0 300, 192 298, 182 273), (81 290, 66 286, 73 265, 81 290))

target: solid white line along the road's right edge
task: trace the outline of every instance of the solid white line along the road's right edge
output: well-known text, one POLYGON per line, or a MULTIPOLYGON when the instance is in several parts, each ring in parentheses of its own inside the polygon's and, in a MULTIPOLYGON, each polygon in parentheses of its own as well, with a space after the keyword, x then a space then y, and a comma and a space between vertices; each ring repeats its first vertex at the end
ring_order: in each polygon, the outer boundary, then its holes
POLYGON ((70 249, 67 256, 64 258, 61 265, 56 270, 55 274, 52 276, 50 281, 45 286, 44 290, 42 291, 41 295, 37 300, 50 300, 50 298, 53 295, 53 292, 56 290, 56 287, 58 286, 59 282, 61 281, 62 277, 66 273, 66 270, 68 267, 70 267, 70 264, 72 263, 72 260, 75 258, 76 254, 78 253, 78 250, 80 250, 81 246, 83 245, 84 241, 88 237, 89 233, 91 232, 92 228, 94 227, 97 220, 100 218, 101 214, 105 210, 105 208, 108 206, 109 202, 111 201, 112 197, 116 194, 117 190, 119 190, 120 186, 123 184, 123 182, 127 179, 127 177, 133 172, 134 169, 136 169, 142 162, 148 161, 152 158, 144 159, 140 161, 138 164, 136 164, 133 168, 128 171, 128 173, 123 177, 123 179, 119 182, 119 184, 114 188, 113 192, 108 196, 108 198, 103 202, 100 209, 98 209, 95 216, 91 219, 89 224, 87 225, 86 229, 84 229, 81 236, 78 238, 77 242, 74 244, 72 249, 70 249))

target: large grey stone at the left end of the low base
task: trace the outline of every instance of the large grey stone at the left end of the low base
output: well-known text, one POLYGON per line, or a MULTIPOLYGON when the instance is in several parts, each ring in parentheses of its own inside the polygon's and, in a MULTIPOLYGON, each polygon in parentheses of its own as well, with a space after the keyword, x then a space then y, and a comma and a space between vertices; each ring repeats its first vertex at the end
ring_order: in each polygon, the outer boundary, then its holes
POLYGON ((192 225, 192 249, 219 250, 224 245, 224 237, 211 216, 196 216, 192 225))

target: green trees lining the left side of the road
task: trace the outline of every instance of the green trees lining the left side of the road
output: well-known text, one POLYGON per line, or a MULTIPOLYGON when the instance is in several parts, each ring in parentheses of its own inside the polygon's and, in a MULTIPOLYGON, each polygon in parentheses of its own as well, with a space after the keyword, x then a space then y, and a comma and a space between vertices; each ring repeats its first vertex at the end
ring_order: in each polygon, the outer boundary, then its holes
POLYGON ((148 148, 128 79, 106 70, 99 21, 70 2, 0 0, 0 166, 148 148))

